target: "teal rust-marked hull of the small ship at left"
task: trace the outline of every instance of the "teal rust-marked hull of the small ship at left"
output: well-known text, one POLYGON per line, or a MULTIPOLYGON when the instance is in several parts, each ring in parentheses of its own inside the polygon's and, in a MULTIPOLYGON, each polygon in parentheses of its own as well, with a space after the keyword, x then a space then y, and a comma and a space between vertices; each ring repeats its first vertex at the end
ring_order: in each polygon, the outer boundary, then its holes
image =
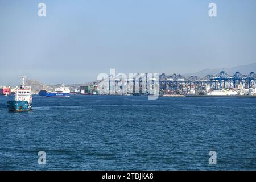
POLYGON ((9 111, 22 112, 32 110, 32 104, 27 101, 8 101, 9 111))

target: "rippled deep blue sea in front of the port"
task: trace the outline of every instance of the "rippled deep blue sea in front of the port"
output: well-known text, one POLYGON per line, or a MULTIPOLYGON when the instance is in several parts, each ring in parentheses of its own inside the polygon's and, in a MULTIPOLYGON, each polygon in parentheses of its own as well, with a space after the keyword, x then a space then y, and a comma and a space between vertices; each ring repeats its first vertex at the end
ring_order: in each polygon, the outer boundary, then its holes
POLYGON ((256 170, 256 98, 34 96, 27 113, 8 100, 1 170, 256 170))

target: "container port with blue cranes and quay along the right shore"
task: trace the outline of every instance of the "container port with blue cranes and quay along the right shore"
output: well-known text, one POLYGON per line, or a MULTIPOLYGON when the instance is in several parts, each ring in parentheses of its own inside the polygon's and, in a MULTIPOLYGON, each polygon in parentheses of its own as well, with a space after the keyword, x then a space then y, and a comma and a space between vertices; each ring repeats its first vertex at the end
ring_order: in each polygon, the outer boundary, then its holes
MULTIPOLYGON (((104 94, 151 94, 158 86, 159 94, 205 94, 205 95, 252 95, 255 90, 256 74, 250 72, 233 75, 222 71, 217 75, 183 76, 180 74, 159 74, 158 80, 149 77, 148 73, 134 74, 132 79, 122 76, 109 76, 108 88, 104 94), (158 82, 156 84, 156 81, 158 82)), ((105 85, 104 85, 105 86, 105 85)))

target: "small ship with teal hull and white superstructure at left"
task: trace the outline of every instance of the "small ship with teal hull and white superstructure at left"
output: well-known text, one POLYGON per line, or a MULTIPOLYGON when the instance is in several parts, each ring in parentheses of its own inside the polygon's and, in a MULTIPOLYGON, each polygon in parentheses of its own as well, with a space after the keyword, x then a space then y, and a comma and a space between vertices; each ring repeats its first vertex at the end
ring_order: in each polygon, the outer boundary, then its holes
POLYGON ((26 76, 20 77, 20 86, 15 89, 15 98, 7 102, 9 111, 22 112, 32 110, 31 86, 25 86, 26 76))

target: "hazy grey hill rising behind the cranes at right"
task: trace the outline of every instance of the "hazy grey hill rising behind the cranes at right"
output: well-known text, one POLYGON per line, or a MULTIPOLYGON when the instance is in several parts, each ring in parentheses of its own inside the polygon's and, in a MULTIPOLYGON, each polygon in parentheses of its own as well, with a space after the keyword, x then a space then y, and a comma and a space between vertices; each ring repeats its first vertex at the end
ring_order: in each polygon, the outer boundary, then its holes
POLYGON ((256 72, 256 63, 252 63, 252 64, 247 64, 247 65, 241 65, 241 66, 237 66, 237 67, 232 67, 232 68, 221 68, 221 69, 203 69, 200 72, 196 72, 196 73, 188 73, 188 74, 184 74, 185 76, 198 76, 198 77, 204 77, 208 74, 211 75, 217 75, 218 73, 220 73, 221 71, 225 71, 226 73, 228 73, 229 75, 233 75, 233 73, 239 71, 240 73, 242 73, 243 75, 247 75, 250 72, 256 72))

